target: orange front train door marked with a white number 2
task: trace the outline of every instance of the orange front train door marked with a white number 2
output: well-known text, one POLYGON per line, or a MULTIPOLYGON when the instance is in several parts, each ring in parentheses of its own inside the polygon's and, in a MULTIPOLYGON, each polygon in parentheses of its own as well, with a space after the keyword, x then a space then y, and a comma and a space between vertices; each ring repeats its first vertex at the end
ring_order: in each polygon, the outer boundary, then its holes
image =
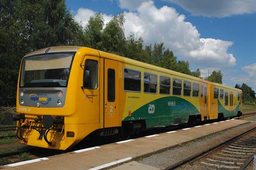
POLYGON ((104 128, 118 126, 118 62, 104 59, 104 128))

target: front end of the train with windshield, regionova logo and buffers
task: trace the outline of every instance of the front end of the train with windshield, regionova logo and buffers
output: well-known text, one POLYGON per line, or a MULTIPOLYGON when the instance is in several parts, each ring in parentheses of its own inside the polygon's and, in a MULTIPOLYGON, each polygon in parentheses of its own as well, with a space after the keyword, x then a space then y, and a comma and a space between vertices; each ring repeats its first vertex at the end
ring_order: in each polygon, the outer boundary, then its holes
POLYGON ((66 150, 76 141, 75 129, 65 125, 74 113, 67 90, 77 48, 66 52, 54 48, 26 55, 21 63, 16 111, 5 114, 5 122, 17 121, 18 142, 43 148, 66 150), (61 51, 61 52, 60 52, 61 51))

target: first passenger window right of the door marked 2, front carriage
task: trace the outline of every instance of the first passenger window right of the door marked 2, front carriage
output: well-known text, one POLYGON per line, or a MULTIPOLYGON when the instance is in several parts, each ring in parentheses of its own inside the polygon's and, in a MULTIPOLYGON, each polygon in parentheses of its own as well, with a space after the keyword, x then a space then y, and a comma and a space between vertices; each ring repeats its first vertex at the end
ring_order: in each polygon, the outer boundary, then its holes
POLYGON ((124 69, 123 70, 123 89, 127 91, 140 92, 141 74, 139 71, 124 69))

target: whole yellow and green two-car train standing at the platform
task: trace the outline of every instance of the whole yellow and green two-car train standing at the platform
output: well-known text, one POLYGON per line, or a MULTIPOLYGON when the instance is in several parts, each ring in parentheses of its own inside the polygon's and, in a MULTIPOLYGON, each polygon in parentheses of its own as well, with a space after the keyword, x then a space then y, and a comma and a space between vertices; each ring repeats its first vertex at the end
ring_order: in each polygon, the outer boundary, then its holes
POLYGON ((118 55, 56 46, 25 55, 17 85, 18 142, 66 150, 88 135, 242 114, 242 91, 118 55))

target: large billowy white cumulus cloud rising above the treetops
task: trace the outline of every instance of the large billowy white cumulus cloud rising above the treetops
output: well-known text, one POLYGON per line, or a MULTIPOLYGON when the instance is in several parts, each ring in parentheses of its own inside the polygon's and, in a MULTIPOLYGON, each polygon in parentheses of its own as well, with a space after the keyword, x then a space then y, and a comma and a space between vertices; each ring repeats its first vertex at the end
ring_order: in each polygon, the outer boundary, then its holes
MULTIPOLYGON (((186 16, 180 15, 174 8, 163 6, 158 9, 152 0, 140 0, 138 2, 141 4, 136 3, 136 5, 128 0, 119 0, 119 2, 123 8, 131 10, 137 8, 136 12, 124 12, 126 36, 134 32, 136 37, 144 38, 144 45, 164 42, 165 48, 169 48, 176 56, 197 66, 236 65, 234 56, 227 53, 233 42, 200 38, 197 28, 192 23, 186 22, 186 16)), ((95 12, 92 10, 79 9, 75 20, 82 21, 85 26, 93 14, 95 12)), ((104 15, 105 24, 111 18, 112 16, 104 15)))

